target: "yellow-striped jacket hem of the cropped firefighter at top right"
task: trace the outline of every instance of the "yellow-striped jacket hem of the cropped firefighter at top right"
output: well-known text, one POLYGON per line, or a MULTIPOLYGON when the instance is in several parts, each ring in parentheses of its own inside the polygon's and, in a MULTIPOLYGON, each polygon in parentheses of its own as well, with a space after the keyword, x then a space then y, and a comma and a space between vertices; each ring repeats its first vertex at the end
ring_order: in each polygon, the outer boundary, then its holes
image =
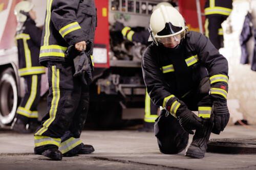
POLYGON ((232 10, 232 0, 207 0, 204 5, 205 15, 229 15, 232 10))

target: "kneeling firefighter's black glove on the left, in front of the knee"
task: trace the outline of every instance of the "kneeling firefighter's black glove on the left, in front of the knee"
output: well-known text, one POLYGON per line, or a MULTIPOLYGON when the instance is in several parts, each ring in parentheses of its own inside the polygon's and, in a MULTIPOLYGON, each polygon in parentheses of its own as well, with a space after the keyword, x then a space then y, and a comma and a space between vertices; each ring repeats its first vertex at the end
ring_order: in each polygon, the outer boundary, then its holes
POLYGON ((185 103, 177 100, 180 103, 180 107, 176 112, 177 119, 180 122, 180 126, 189 134, 194 134, 192 130, 202 128, 203 119, 198 117, 195 113, 191 112, 185 103))

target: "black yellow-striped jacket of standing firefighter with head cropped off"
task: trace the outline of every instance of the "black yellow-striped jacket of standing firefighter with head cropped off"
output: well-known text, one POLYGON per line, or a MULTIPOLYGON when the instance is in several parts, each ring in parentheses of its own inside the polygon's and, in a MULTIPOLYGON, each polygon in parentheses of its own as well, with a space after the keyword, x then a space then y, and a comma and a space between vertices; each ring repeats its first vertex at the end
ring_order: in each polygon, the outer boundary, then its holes
POLYGON ((93 43, 96 26, 94 0, 48 0, 40 64, 46 66, 45 61, 70 62, 71 59, 65 56, 67 48, 80 41, 93 43))

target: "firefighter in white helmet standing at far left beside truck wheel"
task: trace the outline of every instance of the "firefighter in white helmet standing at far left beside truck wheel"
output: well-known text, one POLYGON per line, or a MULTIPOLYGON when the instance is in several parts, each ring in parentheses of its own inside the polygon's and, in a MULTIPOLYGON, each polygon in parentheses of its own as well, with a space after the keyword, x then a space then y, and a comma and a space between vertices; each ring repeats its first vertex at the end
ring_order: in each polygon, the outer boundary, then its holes
POLYGON ((20 133, 33 133, 38 128, 37 104, 40 99, 41 74, 45 67, 39 64, 42 31, 36 27, 34 5, 22 1, 15 6, 19 75, 25 80, 25 95, 16 111, 11 129, 20 133), (28 129, 26 125, 29 125, 28 129))

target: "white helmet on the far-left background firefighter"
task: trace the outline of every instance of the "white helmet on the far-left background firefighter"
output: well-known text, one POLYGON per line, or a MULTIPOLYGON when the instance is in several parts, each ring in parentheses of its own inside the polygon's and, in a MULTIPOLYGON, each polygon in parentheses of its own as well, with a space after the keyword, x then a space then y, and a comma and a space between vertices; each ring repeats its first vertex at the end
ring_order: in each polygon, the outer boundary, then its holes
POLYGON ((31 11, 34 7, 34 4, 28 1, 19 2, 14 9, 14 14, 18 22, 25 22, 27 19, 26 13, 31 11), (20 12, 21 11, 21 12, 20 12))

